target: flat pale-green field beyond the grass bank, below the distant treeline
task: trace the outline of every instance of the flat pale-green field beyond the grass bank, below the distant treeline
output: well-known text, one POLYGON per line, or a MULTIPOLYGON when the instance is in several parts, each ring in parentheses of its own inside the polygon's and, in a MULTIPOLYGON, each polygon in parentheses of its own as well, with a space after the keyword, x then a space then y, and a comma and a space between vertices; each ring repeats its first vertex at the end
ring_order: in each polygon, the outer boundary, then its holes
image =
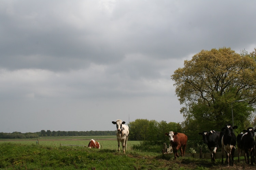
MULTIPOLYGON (((40 137, 38 138, 39 145, 44 145, 44 146, 60 146, 60 144, 88 146, 90 139, 94 139, 98 141, 102 149, 118 148, 116 136, 40 137)), ((37 138, 36 139, 1 139, 0 143, 14 142, 14 143, 32 145, 32 144, 37 144, 38 140, 37 138)), ((133 145, 137 145, 139 143, 140 141, 128 141, 127 150, 130 150, 133 145)), ((122 144, 120 143, 120 145, 122 144)), ((70 147, 76 147, 76 146, 70 146, 70 147)), ((120 149, 122 149, 122 146, 120 147, 120 149)))

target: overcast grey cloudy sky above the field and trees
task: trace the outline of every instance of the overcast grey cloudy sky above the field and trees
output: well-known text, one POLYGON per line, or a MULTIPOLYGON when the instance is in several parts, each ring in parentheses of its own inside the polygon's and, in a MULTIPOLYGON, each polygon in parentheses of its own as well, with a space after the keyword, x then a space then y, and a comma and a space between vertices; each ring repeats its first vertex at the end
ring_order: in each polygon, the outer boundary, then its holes
POLYGON ((0 0, 0 132, 184 121, 173 72, 256 48, 256 1, 0 0))

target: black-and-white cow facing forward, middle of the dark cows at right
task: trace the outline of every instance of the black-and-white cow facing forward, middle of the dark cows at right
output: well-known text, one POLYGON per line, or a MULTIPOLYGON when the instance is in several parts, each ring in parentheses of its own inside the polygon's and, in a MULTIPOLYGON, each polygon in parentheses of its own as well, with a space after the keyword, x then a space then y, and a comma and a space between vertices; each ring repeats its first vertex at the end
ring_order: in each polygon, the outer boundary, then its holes
POLYGON ((226 152, 226 161, 227 166, 234 164, 234 151, 236 149, 237 138, 233 133, 233 129, 237 129, 237 126, 231 126, 231 124, 226 124, 222 131, 224 131, 221 143, 222 143, 222 163, 224 151, 226 152))

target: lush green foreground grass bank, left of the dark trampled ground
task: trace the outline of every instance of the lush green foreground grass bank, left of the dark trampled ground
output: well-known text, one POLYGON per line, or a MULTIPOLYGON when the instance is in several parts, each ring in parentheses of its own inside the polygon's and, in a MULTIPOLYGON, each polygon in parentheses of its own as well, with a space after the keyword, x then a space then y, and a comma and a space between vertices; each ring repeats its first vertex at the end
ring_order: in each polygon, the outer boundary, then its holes
POLYGON ((132 150, 127 150, 124 154, 116 149, 54 147, 15 142, 2 142, 0 147, 2 169, 155 169, 146 164, 145 153, 132 150))

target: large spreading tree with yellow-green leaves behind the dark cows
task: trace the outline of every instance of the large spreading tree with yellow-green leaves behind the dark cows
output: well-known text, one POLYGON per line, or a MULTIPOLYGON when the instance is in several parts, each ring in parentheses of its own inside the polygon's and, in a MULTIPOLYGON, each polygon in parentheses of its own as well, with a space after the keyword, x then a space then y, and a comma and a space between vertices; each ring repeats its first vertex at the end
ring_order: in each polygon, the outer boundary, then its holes
MULTIPOLYGON (((256 50, 255 50, 256 51, 256 50)), ((255 51, 238 54, 230 48, 202 50, 171 75, 186 132, 218 130, 226 123, 246 128, 256 103, 255 51)))

